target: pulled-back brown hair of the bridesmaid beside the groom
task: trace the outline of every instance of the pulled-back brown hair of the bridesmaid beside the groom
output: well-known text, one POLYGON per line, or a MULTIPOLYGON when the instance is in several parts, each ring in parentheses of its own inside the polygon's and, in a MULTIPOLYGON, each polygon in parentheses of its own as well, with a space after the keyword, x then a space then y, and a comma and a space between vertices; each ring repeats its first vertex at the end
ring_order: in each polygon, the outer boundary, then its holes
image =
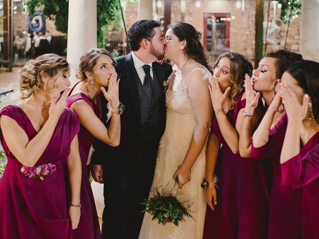
POLYGON ((86 72, 93 72, 93 67, 96 64, 96 60, 98 59, 99 56, 101 55, 107 55, 109 56, 114 65, 116 65, 116 62, 108 50, 105 50, 103 48, 92 48, 86 53, 84 53, 83 56, 80 58, 80 66, 78 73, 76 74, 76 77, 80 80, 80 82, 87 81, 87 76, 85 75, 86 72))

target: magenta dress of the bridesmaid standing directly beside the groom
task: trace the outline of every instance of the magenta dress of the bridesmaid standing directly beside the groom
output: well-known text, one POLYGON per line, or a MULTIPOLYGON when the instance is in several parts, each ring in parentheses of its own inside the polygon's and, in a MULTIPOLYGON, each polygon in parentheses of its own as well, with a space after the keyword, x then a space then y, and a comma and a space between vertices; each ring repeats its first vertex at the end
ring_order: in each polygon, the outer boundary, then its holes
MULTIPOLYGON (((71 94, 71 92, 69 94, 71 94)), ((99 97, 97 97, 97 104, 94 104, 94 102, 92 102, 92 100, 85 94, 74 94, 66 100, 66 106, 70 107, 75 101, 78 100, 87 102, 92 107, 95 115, 101 119, 101 102, 99 97)), ((86 166, 94 136, 82 124, 80 124, 78 138, 79 151, 82 161, 81 218, 79 226, 74 230, 73 234, 75 239, 100 239, 102 238, 102 235, 99 219, 96 212, 92 188, 89 181, 89 173, 86 166)))

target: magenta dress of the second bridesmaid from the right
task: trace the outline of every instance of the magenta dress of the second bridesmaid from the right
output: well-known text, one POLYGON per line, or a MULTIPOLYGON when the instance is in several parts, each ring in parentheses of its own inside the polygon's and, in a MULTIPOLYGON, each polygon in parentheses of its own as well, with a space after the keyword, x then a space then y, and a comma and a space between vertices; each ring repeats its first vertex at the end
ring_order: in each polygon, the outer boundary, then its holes
POLYGON ((301 189, 292 189, 282 184, 280 153, 283 146, 287 114, 271 128, 268 143, 254 147, 251 155, 255 159, 269 160, 274 167, 269 203, 268 239, 299 239, 301 235, 301 189))

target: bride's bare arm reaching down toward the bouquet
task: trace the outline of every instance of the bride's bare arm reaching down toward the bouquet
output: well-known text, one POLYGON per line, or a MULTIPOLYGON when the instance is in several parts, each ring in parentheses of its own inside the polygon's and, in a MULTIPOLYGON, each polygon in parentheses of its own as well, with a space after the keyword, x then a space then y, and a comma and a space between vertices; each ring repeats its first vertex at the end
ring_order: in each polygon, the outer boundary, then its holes
POLYGON ((212 104, 207 87, 208 77, 202 71, 195 71, 190 77, 188 96, 196 119, 196 126, 185 158, 173 176, 174 179, 178 178, 179 188, 190 181, 190 169, 204 146, 212 119, 212 104))

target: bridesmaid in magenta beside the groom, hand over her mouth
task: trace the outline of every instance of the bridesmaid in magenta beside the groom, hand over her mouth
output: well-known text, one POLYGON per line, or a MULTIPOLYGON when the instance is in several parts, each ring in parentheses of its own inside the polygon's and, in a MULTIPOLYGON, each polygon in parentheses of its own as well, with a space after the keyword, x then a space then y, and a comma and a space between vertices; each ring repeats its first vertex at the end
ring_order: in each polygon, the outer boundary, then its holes
MULTIPOLYGON (((89 152, 94 137, 112 146, 117 146, 120 142, 119 86, 114 64, 115 61, 111 53, 105 49, 93 48, 85 53, 80 60, 80 82, 73 87, 66 101, 67 107, 75 111, 81 122, 78 137, 83 171, 81 186, 83 216, 80 218, 78 228, 74 230, 75 239, 99 239, 102 237, 87 164, 90 161, 89 152), (108 92, 105 91, 104 87, 108 87, 108 92), (112 120, 109 128, 106 128, 101 121, 99 98, 101 91, 112 108, 110 110, 112 120)), ((93 177, 102 183, 103 173, 100 172, 100 175, 93 175, 93 177)))

